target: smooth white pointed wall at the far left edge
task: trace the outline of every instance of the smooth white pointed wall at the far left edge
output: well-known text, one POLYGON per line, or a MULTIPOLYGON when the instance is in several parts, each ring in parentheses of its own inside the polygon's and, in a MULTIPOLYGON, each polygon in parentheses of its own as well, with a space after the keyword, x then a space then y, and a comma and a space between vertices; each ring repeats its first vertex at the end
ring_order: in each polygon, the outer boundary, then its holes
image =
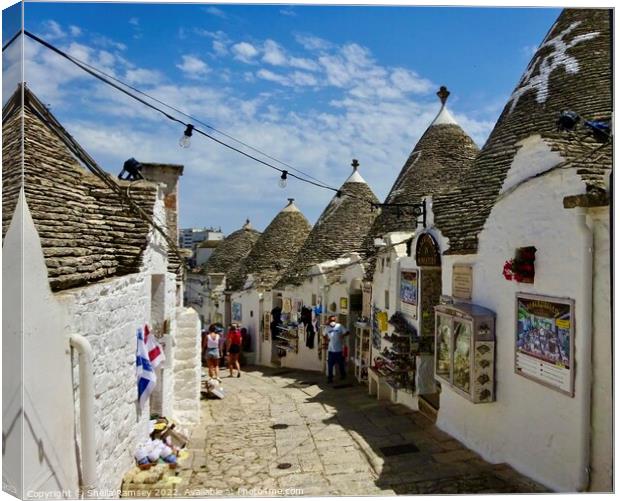
MULTIPOLYGON (((6 480, 20 490, 21 474, 15 470, 23 467, 25 497, 36 497, 37 493, 51 490, 69 491, 66 497, 76 497, 78 463, 73 447, 74 406, 71 350, 68 331, 65 330, 67 316, 49 288, 41 243, 23 195, 20 195, 6 234, 3 251, 3 264, 16 264, 16 258, 28 263, 23 267, 23 276, 21 266, 15 266, 5 268, 7 273, 3 277, 4 283, 13 286, 21 284, 26 298, 23 324, 19 315, 8 314, 19 310, 5 310, 3 317, 9 324, 3 324, 3 327, 8 327, 3 332, 5 343, 10 343, 3 346, 3 362, 6 363, 3 369, 14 371, 6 377, 6 381, 3 378, 3 389, 19 388, 23 377, 23 404, 13 391, 3 395, 3 411, 6 411, 3 412, 3 431, 8 431, 19 406, 23 405, 24 409, 23 421, 18 421, 7 437, 7 452, 10 454, 16 450, 11 444, 17 446, 20 452, 4 457, 3 468, 6 470, 3 470, 3 480, 6 476, 6 480), (22 242, 20 239, 23 239, 22 242), (16 348, 19 348, 17 344, 22 339, 22 329, 23 350, 27 356, 23 359, 23 366, 19 367, 21 358, 10 359, 20 357, 21 349, 16 348), (15 339, 13 334, 19 339, 15 339), (12 403, 17 403, 17 407, 12 403), (23 435, 23 443, 20 435, 23 435), (40 459, 40 452, 43 453, 43 460, 40 459)), ((17 291, 12 290, 10 295, 16 296, 17 291)), ((6 375, 5 372, 3 376, 6 375)))

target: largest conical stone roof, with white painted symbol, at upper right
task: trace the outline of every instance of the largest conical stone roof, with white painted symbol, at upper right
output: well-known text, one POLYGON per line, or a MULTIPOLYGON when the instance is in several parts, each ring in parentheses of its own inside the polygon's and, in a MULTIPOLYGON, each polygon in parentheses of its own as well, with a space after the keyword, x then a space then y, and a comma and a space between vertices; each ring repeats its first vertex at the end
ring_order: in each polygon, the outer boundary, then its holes
MULTIPOLYGON (((475 253, 482 230, 502 189, 519 141, 540 135, 590 188, 605 189, 611 146, 583 127, 557 131, 561 111, 609 121, 612 113, 611 10, 566 9, 545 37, 510 96, 495 128, 458 191, 433 202, 435 223, 449 238, 448 254, 475 253), (595 151, 596 150, 596 151, 595 151), (595 153, 595 154, 593 154, 595 153)), ((611 143, 611 142, 610 142, 611 143)), ((571 195, 573 193, 570 193, 571 195)))

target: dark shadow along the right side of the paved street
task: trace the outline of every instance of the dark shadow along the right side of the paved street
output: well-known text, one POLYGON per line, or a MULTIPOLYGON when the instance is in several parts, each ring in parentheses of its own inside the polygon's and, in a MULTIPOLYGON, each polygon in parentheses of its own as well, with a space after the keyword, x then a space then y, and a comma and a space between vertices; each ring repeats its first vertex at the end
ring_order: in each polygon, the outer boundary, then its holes
POLYGON ((303 403, 320 404, 330 417, 322 419, 319 438, 325 434, 333 453, 341 454, 346 473, 347 456, 354 452, 349 450, 350 439, 339 439, 340 430, 346 430, 376 474, 378 487, 396 494, 549 492, 506 464, 487 463, 421 413, 369 396, 367 387, 351 377, 328 384, 317 372, 244 370, 274 381, 281 378, 281 388, 299 389, 307 395, 303 403))

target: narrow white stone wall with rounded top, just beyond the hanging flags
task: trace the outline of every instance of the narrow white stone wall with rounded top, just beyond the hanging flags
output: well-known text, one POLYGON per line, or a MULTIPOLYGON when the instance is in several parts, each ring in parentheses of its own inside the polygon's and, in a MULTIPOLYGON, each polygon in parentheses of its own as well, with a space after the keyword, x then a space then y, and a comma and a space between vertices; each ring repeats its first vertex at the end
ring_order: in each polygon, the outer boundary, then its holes
POLYGON ((192 308, 179 309, 174 336, 174 419, 183 425, 200 421, 200 320, 192 308))

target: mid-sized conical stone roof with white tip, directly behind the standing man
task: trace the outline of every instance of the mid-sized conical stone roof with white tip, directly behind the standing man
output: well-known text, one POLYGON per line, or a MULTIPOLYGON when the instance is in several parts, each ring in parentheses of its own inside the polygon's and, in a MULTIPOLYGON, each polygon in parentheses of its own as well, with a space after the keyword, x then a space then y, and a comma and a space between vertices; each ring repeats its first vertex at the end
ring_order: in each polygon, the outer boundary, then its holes
POLYGON ((353 173, 340 188, 341 196, 336 194, 329 202, 277 287, 300 284, 310 267, 343 254, 366 256, 364 238, 377 215, 371 204, 378 199, 357 172, 357 165, 354 160, 353 173))

